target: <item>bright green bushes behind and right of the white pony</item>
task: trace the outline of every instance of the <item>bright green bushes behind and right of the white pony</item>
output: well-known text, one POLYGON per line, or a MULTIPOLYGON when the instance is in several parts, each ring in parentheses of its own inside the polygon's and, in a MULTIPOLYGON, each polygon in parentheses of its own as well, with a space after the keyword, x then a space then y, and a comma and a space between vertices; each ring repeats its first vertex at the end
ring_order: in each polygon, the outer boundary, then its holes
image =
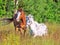
POLYGON ((38 22, 60 23, 60 3, 53 0, 25 0, 24 9, 34 15, 38 22))

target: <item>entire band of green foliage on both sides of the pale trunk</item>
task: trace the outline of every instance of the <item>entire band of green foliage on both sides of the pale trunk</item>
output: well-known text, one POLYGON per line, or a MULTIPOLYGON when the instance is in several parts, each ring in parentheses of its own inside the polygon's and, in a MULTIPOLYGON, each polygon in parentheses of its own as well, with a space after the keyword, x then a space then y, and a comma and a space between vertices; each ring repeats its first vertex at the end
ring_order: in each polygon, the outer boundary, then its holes
MULTIPOLYGON (((60 0, 18 0, 18 7, 32 14, 38 22, 60 23, 60 0)), ((0 17, 12 17, 14 11, 13 0, 0 0, 0 17), (3 2, 4 1, 4 2, 3 2), (7 5, 8 4, 8 5, 7 5), (3 13, 4 12, 4 13, 3 13)))

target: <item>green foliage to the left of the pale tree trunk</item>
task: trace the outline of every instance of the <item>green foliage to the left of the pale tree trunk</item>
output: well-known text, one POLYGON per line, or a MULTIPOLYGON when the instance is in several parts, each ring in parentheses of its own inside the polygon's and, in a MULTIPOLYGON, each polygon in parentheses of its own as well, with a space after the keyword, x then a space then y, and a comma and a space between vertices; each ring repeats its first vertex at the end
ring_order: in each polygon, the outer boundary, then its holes
POLYGON ((11 0, 0 0, 0 17, 11 17, 13 15, 14 2, 11 0))

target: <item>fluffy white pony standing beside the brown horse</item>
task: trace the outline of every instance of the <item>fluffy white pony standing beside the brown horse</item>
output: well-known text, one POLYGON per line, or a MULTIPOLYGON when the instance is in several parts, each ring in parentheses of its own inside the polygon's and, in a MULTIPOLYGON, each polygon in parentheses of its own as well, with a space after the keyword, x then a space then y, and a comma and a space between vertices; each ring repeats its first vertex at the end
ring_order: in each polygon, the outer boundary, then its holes
POLYGON ((47 26, 44 23, 39 24, 38 22, 34 21, 33 16, 31 14, 29 14, 27 17, 27 25, 30 26, 32 33, 34 34, 33 37, 43 36, 48 33, 47 26))

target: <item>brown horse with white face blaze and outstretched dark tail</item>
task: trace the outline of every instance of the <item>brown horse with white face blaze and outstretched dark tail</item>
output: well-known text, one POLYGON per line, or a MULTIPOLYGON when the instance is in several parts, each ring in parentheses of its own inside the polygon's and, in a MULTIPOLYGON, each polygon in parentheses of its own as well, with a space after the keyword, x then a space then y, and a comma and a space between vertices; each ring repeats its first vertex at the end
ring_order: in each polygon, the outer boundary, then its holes
POLYGON ((11 19, 4 18, 7 22, 14 23, 15 32, 20 31, 20 34, 25 35, 26 32, 26 16, 22 9, 18 9, 11 19))

